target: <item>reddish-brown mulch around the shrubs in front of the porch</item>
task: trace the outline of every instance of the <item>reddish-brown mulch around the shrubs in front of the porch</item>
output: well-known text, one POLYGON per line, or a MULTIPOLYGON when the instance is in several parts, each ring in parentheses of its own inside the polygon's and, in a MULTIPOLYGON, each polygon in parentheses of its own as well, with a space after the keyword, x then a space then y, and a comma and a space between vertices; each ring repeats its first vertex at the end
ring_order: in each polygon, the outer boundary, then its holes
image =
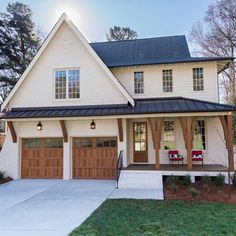
POLYGON ((184 186, 183 182, 179 181, 176 192, 167 183, 164 183, 164 197, 166 200, 236 203, 236 188, 227 184, 219 188, 214 181, 209 184, 208 188, 204 187, 201 181, 184 186), (198 195, 196 197, 192 196, 191 188, 197 190, 198 195))

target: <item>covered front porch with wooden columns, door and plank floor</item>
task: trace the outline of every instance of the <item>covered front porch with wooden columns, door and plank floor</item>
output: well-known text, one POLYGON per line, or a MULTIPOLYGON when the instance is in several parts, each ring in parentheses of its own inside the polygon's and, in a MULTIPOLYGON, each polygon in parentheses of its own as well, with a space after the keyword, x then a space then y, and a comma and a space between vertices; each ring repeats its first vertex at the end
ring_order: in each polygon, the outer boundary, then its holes
MULTIPOLYGON (((163 114, 164 115, 164 114, 163 114)), ((128 118, 125 122, 125 170, 233 172, 232 114, 192 113, 128 118), (165 122, 171 123, 173 139, 165 140, 165 122), (200 127, 195 141, 196 126, 200 127), (199 138, 200 137, 200 138, 199 138), (200 140, 200 141, 199 141, 200 140), (178 150, 181 161, 170 163, 169 150, 178 150), (202 162, 192 160, 192 150, 202 150, 202 162)), ((168 133, 169 132, 169 133, 168 133)), ((168 137, 167 137, 168 138, 168 137)))

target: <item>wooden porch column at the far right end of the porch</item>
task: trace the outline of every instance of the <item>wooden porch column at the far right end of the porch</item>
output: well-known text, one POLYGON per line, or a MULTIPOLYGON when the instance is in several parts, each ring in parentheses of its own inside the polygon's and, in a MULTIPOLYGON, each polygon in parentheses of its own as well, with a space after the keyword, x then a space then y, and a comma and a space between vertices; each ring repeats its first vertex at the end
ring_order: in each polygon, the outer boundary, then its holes
POLYGON ((229 171, 234 171, 234 151, 233 151, 233 121, 232 114, 219 116, 223 131, 226 148, 228 150, 229 171))

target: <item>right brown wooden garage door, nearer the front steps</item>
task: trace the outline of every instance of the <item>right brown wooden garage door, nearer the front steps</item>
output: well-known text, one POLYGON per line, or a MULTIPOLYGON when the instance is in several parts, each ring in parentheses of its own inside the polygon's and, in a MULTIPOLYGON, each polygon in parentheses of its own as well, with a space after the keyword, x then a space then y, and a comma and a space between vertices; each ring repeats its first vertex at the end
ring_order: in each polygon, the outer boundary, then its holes
POLYGON ((73 178, 116 178, 116 138, 73 138, 72 149, 73 178))

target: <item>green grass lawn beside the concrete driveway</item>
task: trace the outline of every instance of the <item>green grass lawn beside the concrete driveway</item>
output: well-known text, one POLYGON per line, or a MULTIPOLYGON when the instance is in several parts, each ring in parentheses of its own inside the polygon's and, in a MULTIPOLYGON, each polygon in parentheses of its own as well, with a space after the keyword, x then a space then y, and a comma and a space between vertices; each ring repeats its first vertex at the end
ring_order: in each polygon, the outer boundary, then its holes
POLYGON ((236 235, 236 205, 107 200, 70 236, 236 235))

